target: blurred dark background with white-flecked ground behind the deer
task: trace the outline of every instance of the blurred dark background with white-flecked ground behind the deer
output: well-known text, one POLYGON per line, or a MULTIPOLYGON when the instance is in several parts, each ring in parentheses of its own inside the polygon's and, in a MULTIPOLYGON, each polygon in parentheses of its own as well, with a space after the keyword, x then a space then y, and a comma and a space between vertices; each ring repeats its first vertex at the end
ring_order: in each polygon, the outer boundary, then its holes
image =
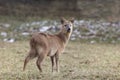
POLYGON ((120 42, 120 0, 0 0, 0 41, 56 33, 61 17, 75 18, 72 41, 120 42))

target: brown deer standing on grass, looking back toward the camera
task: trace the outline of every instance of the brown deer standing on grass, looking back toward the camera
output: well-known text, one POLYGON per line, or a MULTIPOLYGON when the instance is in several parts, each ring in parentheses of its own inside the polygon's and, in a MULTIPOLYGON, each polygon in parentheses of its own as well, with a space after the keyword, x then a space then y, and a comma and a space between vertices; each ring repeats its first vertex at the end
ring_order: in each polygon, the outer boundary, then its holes
POLYGON ((41 63, 46 56, 50 56, 52 72, 59 71, 59 54, 63 52, 73 30, 73 18, 61 19, 61 30, 58 34, 36 33, 30 39, 30 51, 24 61, 23 70, 29 60, 37 57, 36 65, 42 72, 41 63))

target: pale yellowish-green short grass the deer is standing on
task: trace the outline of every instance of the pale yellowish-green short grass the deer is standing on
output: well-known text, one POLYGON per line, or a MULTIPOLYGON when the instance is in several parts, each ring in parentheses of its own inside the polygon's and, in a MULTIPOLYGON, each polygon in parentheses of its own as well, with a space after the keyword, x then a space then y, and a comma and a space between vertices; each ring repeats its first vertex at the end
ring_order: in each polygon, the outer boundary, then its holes
POLYGON ((120 80, 119 48, 119 44, 69 42, 60 55, 60 72, 51 72, 47 57, 40 73, 36 59, 22 71, 28 41, 0 42, 0 80, 120 80))

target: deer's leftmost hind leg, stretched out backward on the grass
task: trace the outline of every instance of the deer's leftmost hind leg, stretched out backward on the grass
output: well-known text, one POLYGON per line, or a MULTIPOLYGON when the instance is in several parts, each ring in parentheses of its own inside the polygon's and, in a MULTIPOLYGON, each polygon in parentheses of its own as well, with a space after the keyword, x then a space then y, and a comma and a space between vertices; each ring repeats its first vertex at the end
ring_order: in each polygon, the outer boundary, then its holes
POLYGON ((28 63, 31 59, 35 58, 36 56, 37 56, 36 50, 35 50, 35 49, 31 49, 31 50, 29 51, 27 57, 25 58, 24 66, 23 66, 23 71, 25 70, 27 63, 28 63))

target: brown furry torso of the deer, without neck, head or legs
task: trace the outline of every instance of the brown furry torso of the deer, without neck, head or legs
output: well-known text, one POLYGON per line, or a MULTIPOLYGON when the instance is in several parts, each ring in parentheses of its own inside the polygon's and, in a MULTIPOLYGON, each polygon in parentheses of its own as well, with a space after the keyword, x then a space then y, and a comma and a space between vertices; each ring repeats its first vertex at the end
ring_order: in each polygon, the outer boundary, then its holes
POLYGON ((46 33, 34 34, 31 38, 30 45, 32 48, 46 51, 49 56, 54 55, 57 51, 62 52, 64 49, 64 43, 59 37, 46 33))

